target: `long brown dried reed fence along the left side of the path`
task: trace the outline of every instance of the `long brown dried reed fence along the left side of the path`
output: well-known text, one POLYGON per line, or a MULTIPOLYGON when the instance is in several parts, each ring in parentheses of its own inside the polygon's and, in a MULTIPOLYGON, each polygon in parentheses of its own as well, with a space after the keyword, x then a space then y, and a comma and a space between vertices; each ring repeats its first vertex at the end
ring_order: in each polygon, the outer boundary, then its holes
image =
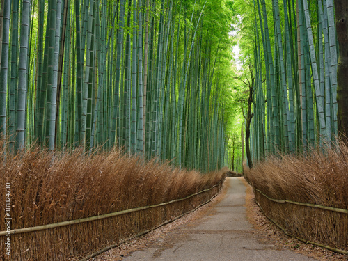
MULTIPOLYGON (((1 235, 0 260, 79 260, 206 203, 221 189, 227 171, 203 175, 143 163, 120 151, 55 152, 52 159, 49 152, 31 148, 0 161, 0 209, 6 207, 5 184, 10 183, 11 229, 75 221, 11 235, 10 257, 1 235), (135 208, 140 209, 125 211, 135 208), (93 216, 104 218, 83 220, 93 216)), ((5 230, 1 222, 0 231, 5 230)))

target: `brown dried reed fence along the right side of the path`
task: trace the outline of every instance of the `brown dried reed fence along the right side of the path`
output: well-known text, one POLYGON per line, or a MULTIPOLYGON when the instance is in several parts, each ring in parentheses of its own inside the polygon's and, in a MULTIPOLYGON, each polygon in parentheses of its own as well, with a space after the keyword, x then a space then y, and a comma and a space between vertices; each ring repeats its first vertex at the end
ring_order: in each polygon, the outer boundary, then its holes
POLYGON ((244 166, 255 200, 287 235, 348 254, 348 148, 269 157, 244 166))

